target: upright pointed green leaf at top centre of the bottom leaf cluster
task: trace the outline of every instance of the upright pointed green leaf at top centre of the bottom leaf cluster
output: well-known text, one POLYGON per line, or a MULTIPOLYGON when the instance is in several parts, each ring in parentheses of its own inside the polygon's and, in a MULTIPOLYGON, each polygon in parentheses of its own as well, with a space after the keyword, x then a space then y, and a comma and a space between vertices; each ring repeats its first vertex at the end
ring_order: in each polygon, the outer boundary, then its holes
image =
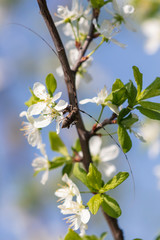
POLYGON ((91 191, 99 190, 103 185, 102 175, 98 169, 90 163, 89 172, 87 174, 87 186, 91 191))

